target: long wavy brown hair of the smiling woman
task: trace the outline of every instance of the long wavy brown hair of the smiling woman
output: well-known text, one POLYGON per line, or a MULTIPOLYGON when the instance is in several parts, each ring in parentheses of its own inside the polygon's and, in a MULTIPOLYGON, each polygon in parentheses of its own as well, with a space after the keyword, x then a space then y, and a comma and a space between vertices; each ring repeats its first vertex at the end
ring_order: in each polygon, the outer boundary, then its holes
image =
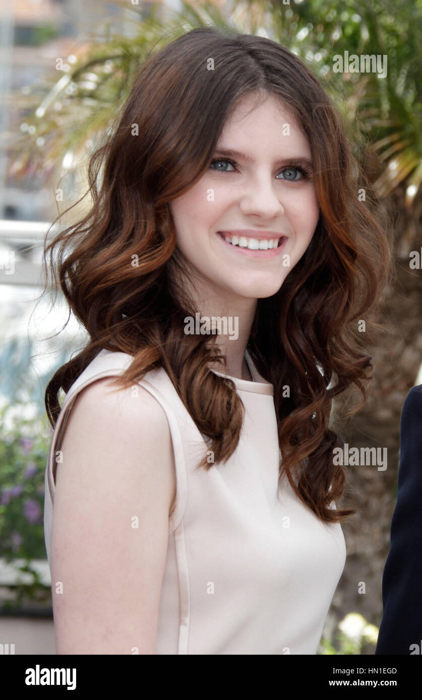
MULTIPOLYGON (((224 123, 250 94, 273 94, 296 116, 311 148, 320 218, 280 290, 257 301, 247 349, 274 386, 280 481, 285 473, 322 521, 338 522, 355 510, 330 507, 346 486, 343 466, 333 464, 343 438, 329 427, 332 401, 350 388, 362 394, 350 415, 365 404, 372 357, 358 321, 370 323, 386 286, 389 246, 373 200, 358 197, 358 188, 368 195, 370 185, 332 99, 310 69, 268 38, 201 27, 140 66, 111 135, 90 158, 90 211, 44 247, 43 265, 48 260, 56 290, 60 284, 90 337, 50 380, 46 411, 55 426, 60 390, 67 392, 102 348, 122 351, 133 360, 116 386, 163 367, 215 463, 233 454, 243 402, 233 381, 210 370, 210 363, 225 367, 215 335, 184 333, 196 303, 183 284, 169 202, 210 167, 224 123), (214 70, 207 69, 210 57, 214 70)), ((205 456, 198 468, 212 466, 205 456)))

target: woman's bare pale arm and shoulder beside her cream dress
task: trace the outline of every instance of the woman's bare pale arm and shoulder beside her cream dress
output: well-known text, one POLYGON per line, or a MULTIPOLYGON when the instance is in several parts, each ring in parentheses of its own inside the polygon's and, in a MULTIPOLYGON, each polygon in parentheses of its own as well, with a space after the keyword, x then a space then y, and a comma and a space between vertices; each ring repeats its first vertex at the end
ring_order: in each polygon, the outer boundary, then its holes
POLYGON ((57 654, 156 652, 176 493, 170 428, 144 388, 135 398, 108 385, 107 377, 81 391, 60 445, 51 539, 57 654))

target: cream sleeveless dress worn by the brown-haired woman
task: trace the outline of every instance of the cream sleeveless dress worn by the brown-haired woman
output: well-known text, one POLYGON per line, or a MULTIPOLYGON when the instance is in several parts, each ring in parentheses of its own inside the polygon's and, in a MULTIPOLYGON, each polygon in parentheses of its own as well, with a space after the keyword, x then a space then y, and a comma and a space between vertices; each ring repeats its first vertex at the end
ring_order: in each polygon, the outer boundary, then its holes
MULTIPOLYGON (((315 654, 343 571, 341 526, 323 524, 287 479, 278 489, 273 385, 247 352, 245 359, 254 381, 231 377, 245 405, 240 442, 224 465, 208 471, 196 469, 208 447, 165 370, 151 370, 139 381, 167 416, 177 483, 156 654, 315 654)), ((46 465, 49 562, 55 452, 69 410, 82 388, 120 374, 131 361, 126 353, 103 349, 66 395, 46 465)))

